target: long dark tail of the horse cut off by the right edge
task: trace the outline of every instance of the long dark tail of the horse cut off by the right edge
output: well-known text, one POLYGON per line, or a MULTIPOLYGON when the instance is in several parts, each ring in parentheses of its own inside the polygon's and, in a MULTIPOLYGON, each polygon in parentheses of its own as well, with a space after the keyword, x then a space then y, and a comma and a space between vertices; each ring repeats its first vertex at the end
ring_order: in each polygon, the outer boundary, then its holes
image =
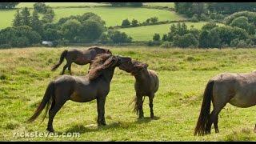
POLYGON ((214 80, 210 80, 203 94, 202 106, 198 118, 197 126, 194 129, 194 135, 204 135, 207 132, 207 123, 210 118, 210 101, 213 96, 214 80))

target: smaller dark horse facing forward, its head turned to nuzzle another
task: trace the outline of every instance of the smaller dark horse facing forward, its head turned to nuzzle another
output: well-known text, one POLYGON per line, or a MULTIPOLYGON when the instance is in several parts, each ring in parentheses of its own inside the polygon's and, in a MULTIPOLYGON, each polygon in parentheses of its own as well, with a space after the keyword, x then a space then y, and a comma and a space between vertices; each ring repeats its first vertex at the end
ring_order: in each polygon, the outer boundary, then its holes
POLYGON ((147 70, 147 67, 148 65, 146 63, 134 60, 119 66, 119 69, 125 70, 126 72, 134 75, 136 79, 134 84, 134 89, 136 91, 136 96, 134 98, 134 112, 136 112, 138 118, 144 117, 142 105, 145 96, 148 96, 150 100, 150 118, 154 118, 153 99, 154 93, 158 91, 159 79, 154 70, 147 70), (144 97, 143 100, 142 97, 144 97))

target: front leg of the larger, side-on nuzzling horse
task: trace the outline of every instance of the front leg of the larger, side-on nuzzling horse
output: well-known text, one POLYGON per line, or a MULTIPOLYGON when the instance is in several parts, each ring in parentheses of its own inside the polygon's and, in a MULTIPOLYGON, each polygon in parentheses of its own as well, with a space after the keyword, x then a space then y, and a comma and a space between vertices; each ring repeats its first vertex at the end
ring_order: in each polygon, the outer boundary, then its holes
POLYGON ((98 126, 106 126, 106 121, 105 121, 105 102, 106 102, 106 97, 99 97, 97 98, 97 110, 98 110, 98 126))

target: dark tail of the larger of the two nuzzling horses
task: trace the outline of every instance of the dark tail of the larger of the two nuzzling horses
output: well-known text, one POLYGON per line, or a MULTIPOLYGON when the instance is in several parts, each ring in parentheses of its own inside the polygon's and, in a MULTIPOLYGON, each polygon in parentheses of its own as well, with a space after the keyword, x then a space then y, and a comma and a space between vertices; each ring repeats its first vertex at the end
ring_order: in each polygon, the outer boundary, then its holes
POLYGON ((54 97, 54 82, 50 82, 49 85, 47 86, 46 93, 42 98, 42 102, 38 106, 37 110, 35 110, 34 115, 28 120, 28 122, 33 122, 36 118, 38 118, 38 115, 41 114, 42 110, 45 108, 47 104, 46 113, 44 115, 44 118, 42 119, 43 121, 46 118, 47 111, 50 108, 50 102, 51 102, 50 99, 53 97, 54 97))

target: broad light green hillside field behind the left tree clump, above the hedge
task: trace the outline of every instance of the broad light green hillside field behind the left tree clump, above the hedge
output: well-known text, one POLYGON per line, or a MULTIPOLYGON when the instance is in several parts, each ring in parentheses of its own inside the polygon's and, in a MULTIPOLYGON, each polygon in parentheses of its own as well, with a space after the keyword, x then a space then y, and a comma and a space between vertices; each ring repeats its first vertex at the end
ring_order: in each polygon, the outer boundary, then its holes
MULTIPOLYGON (((32 10, 30 11, 32 13, 32 10)), ((102 17, 106 21, 106 26, 117 26, 122 24, 123 19, 130 19, 130 21, 135 18, 139 22, 146 21, 150 17, 158 17, 159 21, 166 20, 181 20, 184 19, 182 16, 170 12, 167 10, 154 10, 146 8, 112 8, 112 7, 97 7, 97 8, 58 8, 54 9, 55 18, 54 21, 58 21, 59 18, 68 17, 70 15, 81 15, 87 12, 93 12, 102 17)), ((0 10, 0 28, 5 28, 10 26, 12 20, 14 19, 14 14, 16 10, 0 10)))

